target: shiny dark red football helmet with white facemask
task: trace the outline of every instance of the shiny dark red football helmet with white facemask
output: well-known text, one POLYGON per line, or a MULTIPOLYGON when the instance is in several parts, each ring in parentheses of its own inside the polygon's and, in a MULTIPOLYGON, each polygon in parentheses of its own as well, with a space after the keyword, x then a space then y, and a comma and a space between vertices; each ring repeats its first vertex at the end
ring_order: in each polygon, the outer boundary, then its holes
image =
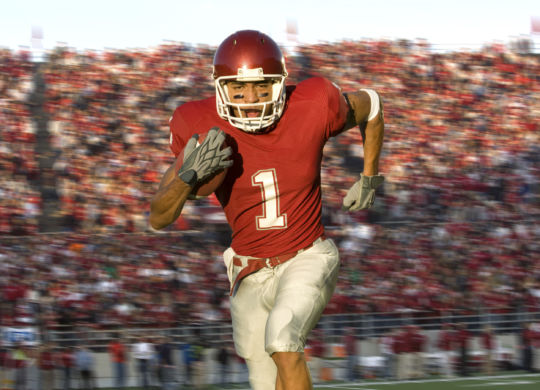
POLYGON ((220 117, 247 132, 264 129, 279 119, 285 106, 285 60, 272 38, 259 31, 238 31, 226 38, 214 56, 213 77, 217 111, 220 117), (226 82, 272 81, 272 100, 256 104, 237 104, 229 99, 226 82), (259 117, 243 116, 242 107, 260 106, 259 117), (269 110, 267 110, 269 108, 269 110), (234 115, 234 109, 239 117, 234 115))

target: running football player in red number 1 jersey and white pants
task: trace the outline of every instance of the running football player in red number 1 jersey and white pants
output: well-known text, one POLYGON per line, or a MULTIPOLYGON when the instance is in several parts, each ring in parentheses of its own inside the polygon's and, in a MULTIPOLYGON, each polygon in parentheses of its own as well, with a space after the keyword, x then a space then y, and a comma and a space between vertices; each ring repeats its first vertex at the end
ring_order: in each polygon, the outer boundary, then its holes
POLYGON ((254 389, 309 389, 304 345, 339 270, 338 250, 321 223, 323 147, 360 126, 364 170, 343 208, 371 207, 383 182, 382 102, 374 90, 344 94, 322 77, 287 86, 278 45, 251 30, 219 45, 213 78, 214 97, 185 103, 171 118, 170 147, 184 157, 165 173, 150 223, 171 224, 198 183, 228 169, 216 196, 232 229, 224 261, 235 347, 254 389), (206 132, 196 147, 197 134, 206 132))

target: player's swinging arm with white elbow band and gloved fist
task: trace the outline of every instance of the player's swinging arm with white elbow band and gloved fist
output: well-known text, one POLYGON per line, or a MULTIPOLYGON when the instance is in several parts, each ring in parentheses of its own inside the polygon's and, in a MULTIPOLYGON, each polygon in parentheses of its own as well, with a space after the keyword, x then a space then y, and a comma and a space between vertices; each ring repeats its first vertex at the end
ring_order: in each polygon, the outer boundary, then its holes
POLYGON ((382 100, 373 90, 360 90, 345 95, 349 113, 345 129, 360 127, 364 140, 364 171, 343 199, 343 209, 349 211, 370 208, 375 189, 384 177, 379 175, 379 158, 384 139, 382 100))

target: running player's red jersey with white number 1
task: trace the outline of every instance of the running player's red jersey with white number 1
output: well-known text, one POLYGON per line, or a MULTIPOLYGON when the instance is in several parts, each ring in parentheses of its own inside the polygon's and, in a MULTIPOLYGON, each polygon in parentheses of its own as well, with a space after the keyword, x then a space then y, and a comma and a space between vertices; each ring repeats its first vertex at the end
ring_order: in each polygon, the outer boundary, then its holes
POLYGON ((232 229, 231 247, 244 256, 271 257, 319 238, 320 170, 326 141, 345 125, 348 105, 330 81, 314 77, 287 87, 283 115, 271 131, 246 133, 221 119, 215 97, 185 103, 170 121, 178 156, 194 133, 217 126, 227 134, 234 165, 216 196, 232 229))

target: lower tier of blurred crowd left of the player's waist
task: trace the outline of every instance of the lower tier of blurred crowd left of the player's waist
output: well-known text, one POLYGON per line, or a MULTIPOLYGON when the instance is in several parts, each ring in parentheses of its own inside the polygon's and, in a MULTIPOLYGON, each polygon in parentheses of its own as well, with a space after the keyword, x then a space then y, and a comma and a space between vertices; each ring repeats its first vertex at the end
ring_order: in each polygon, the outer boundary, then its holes
POLYGON ((15 237, 0 254, 0 323, 73 331, 228 320, 221 251, 205 234, 15 237))

